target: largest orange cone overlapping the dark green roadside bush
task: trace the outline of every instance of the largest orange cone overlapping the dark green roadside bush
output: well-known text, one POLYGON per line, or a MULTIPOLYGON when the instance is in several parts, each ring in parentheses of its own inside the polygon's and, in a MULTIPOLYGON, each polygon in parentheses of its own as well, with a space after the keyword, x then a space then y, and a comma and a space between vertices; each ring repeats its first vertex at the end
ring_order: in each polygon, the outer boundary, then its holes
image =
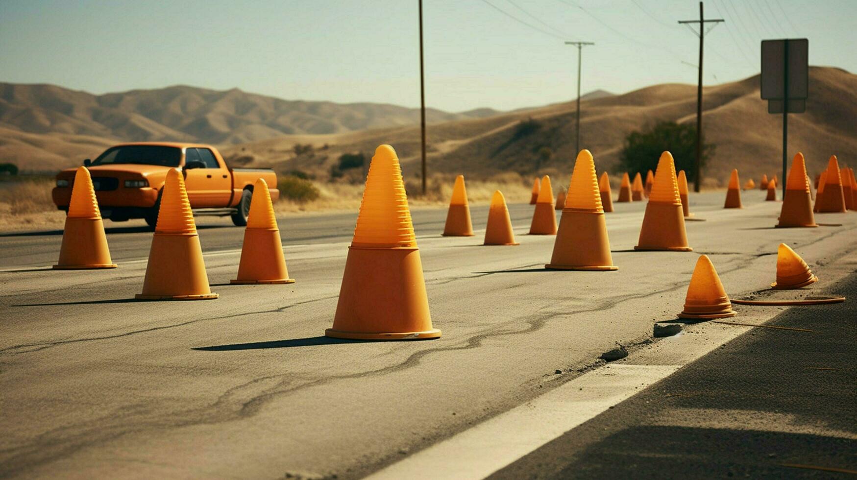
POLYGON ((685 231, 685 215, 675 178, 673 155, 661 154, 657 163, 657 176, 651 188, 649 203, 645 206, 643 227, 640 229, 636 250, 673 250, 689 252, 685 231))

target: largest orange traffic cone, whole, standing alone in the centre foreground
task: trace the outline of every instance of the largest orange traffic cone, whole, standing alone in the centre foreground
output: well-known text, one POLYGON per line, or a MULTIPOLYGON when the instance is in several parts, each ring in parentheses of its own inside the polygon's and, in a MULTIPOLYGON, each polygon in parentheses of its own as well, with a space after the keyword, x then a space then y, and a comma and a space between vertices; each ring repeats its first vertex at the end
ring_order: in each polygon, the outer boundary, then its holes
POLYGON ((369 165, 354 238, 345 260, 339 303, 328 337, 436 339, 395 150, 381 145, 369 165))

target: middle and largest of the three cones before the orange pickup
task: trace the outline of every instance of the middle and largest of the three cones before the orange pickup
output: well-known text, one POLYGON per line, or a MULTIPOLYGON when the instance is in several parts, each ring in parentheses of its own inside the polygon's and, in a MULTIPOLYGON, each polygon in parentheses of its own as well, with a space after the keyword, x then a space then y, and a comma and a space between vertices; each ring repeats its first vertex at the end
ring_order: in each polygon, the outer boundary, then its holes
POLYGON ((152 237, 141 300, 207 300, 217 298, 208 285, 200 236, 182 174, 167 171, 158 224, 152 237))

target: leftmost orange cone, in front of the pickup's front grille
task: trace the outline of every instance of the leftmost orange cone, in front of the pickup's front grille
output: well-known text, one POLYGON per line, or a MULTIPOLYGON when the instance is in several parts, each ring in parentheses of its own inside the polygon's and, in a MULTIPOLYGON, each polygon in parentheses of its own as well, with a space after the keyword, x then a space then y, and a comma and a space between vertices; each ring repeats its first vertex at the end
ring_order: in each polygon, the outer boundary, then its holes
POLYGON ((105 224, 95 198, 93 179, 89 177, 87 167, 81 166, 75 173, 75 183, 71 187, 63 246, 59 249, 59 262, 54 265, 54 269, 87 268, 116 268, 116 264, 111 260, 110 249, 107 248, 105 224))

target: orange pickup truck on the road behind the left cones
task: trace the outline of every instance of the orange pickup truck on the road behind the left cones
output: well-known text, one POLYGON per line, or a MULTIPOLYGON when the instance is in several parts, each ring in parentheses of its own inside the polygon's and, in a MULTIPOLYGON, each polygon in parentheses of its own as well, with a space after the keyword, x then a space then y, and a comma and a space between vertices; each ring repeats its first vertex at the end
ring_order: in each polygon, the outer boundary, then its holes
MULTIPOLYGON (((230 215, 235 225, 247 225, 253 185, 264 178, 277 201, 277 176, 265 168, 229 168, 216 148, 196 143, 138 142, 110 147, 97 159, 86 159, 105 219, 122 222, 146 219, 158 222, 160 192, 166 172, 182 171, 188 189, 190 207, 195 214, 230 215)), ((75 169, 59 172, 53 201, 60 210, 69 211, 75 169)))

